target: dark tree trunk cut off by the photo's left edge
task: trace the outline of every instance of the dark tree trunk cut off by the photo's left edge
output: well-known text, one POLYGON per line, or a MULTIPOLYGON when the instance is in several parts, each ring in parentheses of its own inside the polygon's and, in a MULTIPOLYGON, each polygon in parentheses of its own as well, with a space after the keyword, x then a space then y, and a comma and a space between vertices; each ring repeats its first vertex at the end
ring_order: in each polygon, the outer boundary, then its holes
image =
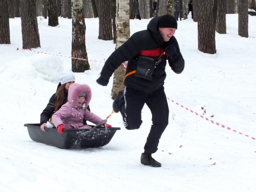
POLYGON ((11 44, 7 0, 0 1, 0 44, 11 44))

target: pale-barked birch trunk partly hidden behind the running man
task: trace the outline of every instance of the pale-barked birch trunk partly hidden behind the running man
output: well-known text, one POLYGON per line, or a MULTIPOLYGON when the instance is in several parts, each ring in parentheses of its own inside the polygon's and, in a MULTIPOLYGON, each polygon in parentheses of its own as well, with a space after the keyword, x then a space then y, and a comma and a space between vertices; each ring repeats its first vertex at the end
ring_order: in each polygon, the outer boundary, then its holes
MULTIPOLYGON (((116 5, 118 7, 116 12, 116 34, 117 34, 117 42, 116 49, 120 47, 124 42, 127 41, 130 37, 130 7, 129 0, 116 0, 116 5)), ((121 86, 124 76, 125 76, 126 68, 121 65, 114 72, 113 78, 113 86, 112 86, 112 99, 116 98, 119 87, 121 86)))

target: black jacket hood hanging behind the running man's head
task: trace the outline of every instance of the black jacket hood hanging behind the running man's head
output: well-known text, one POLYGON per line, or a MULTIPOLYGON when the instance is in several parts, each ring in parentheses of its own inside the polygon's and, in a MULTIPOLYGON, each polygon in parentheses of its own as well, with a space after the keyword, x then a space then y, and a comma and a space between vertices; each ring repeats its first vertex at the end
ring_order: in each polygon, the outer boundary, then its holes
POLYGON ((150 33, 152 34, 153 38, 155 39, 156 43, 158 45, 163 45, 164 39, 160 36, 160 33, 158 31, 158 22, 160 17, 155 17, 153 19, 151 19, 148 23, 147 29, 150 31, 150 33))

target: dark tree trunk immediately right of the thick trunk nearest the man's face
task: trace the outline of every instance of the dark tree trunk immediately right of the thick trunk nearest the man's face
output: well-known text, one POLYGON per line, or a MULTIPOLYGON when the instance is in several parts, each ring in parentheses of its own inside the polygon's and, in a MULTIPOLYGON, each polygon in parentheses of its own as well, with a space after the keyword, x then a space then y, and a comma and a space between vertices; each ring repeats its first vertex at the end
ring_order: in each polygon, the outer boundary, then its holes
POLYGON ((226 34, 227 33, 226 11, 227 11, 227 0, 218 0, 216 32, 218 32, 220 34, 226 34))

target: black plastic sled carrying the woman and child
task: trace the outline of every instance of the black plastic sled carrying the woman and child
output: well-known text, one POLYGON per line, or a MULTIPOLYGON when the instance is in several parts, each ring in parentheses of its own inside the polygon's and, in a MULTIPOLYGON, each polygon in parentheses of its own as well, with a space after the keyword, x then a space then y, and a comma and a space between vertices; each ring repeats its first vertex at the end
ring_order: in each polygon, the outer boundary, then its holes
MULTIPOLYGON (((107 145, 120 127, 96 127, 94 129, 71 129, 59 133, 56 128, 40 129, 40 124, 24 124, 29 137, 36 142, 59 148, 93 148, 107 145), (107 133, 106 133, 107 132, 107 133)), ((90 125, 91 126, 91 125, 90 125)), ((92 126, 93 127, 93 126, 92 126)))

